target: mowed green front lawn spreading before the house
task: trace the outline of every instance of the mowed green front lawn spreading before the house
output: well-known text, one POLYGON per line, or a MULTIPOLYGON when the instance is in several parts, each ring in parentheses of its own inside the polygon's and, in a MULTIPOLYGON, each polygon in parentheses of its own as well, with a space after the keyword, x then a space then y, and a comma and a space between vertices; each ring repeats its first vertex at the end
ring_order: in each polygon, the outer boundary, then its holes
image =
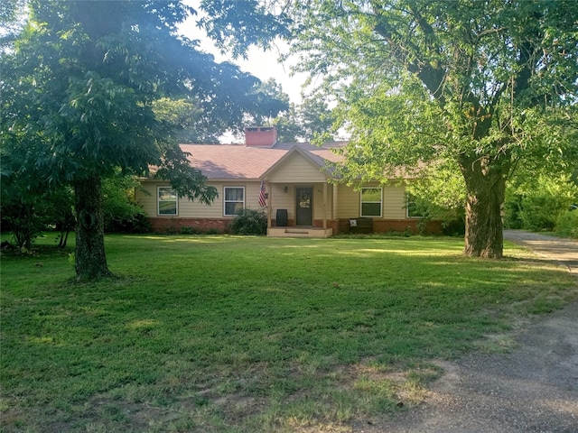
MULTIPOLYGON (((41 244, 51 244, 51 237, 41 244)), ((117 279, 67 250, 2 256, 2 431, 349 431, 424 396, 434 359, 508 349, 576 299, 562 268, 450 238, 107 236, 117 279), (488 336, 494 336, 489 339, 488 336)))

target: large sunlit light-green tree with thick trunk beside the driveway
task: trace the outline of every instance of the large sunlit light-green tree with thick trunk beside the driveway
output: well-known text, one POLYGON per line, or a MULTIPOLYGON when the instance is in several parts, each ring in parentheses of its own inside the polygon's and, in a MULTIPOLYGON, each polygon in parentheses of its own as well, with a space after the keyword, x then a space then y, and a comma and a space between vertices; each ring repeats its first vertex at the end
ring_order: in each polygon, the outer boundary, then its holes
MULTIPOLYGON (((322 90, 336 97, 350 129, 343 179, 386 180, 400 166, 453 163, 467 197, 464 253, 500 257, 500 209, 513 170, 560 170, 575 158, 578 2, 284 5, 276 2, 276 11, 282 23, 293 18, 300 69, 325 78, 322 90)), ((233 36, 216 39, 238 51, 233 36)))

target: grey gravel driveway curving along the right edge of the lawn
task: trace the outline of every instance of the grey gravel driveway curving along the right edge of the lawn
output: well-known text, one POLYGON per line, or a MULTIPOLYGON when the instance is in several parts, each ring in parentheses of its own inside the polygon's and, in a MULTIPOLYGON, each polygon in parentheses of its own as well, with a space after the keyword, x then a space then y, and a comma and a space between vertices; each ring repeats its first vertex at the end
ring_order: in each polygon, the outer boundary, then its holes
MULTIPOLYGON (((578 242, 522 231, 504 237, 578 278, 578 242)), ((578 281, 578 280, 577 280, 578 281)), ((508 355, 441 364, 424 404, 359 433, 578 433, 578 303, 525 327, 508 355)))

